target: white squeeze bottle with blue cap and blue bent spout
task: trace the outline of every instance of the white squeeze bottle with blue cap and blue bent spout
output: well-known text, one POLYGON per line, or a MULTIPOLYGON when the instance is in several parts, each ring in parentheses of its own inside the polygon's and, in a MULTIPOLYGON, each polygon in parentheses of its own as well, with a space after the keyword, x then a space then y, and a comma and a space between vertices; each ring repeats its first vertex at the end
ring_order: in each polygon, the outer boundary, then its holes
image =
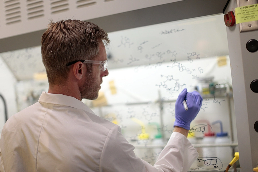
MULTIPOLYGON (((215 139, 215 143, 216 144, 230 144, 231 140, 228 137, 228 133, 223 132, 221 120, 215 121, 212 124, 214 125, 217 123, 220 124, 220 132, 218 132, 216 134, 217 137, 215 139)), ((215 150, 216 150, 216 156, 222 162, 223 167, 226 167, 233 159, 232 148, 230 146, 217 146, 215 150)))

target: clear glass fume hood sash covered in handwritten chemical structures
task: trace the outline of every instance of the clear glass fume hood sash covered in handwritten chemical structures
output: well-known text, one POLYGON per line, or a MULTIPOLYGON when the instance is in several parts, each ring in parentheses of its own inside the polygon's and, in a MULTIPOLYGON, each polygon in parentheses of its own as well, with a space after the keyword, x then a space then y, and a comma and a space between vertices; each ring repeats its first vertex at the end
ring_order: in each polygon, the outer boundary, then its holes
MULTIPOLYGON (((173 132, 178 94, 198 90, 204 100, 188 139, 199 157, 189 171, 224 171, 237 151, 225 27, 220 14, 108 33, 109 75, 98 99, 83 102, 118 124, 136 155, 154 164, 173 132), (228 136, 213 136, 221 124, 228 136)), ((0 67, 10 116, 48 90, 40 47, 1 53, 0 67)))

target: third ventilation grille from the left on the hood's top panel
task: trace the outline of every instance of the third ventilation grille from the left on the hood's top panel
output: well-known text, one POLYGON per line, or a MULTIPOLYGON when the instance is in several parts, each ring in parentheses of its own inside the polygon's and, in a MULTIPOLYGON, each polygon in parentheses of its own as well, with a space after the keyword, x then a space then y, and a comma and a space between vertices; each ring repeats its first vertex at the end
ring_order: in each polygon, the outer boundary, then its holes
POLYGON ((69 10, 68 0, 51 0, 51 14, 62 13, 69 10))

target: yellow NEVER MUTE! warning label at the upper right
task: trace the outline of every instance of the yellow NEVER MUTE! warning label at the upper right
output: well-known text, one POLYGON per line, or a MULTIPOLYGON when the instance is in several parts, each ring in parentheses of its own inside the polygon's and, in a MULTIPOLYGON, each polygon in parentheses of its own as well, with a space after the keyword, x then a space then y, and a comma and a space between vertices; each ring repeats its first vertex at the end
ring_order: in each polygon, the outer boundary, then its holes
POLYGON ((258 5, 247 5, 235 8, 236 24, 258 20, 258 5))

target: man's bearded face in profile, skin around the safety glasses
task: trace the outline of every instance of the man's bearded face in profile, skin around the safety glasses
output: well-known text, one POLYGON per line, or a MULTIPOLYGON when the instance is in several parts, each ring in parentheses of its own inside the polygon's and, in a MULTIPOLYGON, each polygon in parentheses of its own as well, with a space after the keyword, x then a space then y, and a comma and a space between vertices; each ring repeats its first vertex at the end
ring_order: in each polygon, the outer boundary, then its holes
MULTIPOLYGON (((102 41, 99 44, 99 54, 97 54, 94 60, 107 60, 107 53, 105 46, 102 41)), ((101 71, 99 69, 99 64, 92 64, 93 71, 91 73, 86 73, 85 80, 80 87, 81 98, 95 100, 99 95, 100 84, 102 83, 102 77, 108 75, 107 69, 101 71)), ((86 69, 86 64, 85 64, 86 69)))

